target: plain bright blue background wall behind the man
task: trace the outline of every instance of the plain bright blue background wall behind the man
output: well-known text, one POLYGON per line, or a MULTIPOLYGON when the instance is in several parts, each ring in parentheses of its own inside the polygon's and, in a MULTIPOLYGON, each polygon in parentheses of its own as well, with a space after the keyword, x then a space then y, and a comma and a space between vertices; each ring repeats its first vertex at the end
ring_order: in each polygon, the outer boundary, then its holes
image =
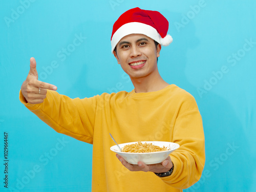
POLYGON ((203 118, 204 172, 184 191, 255 191, 253 0, 2 1, 0 191, 91 191, 92 145, 53 131, 19 102, 18 93, 30 57, 39 79, 71 98, 131 91, 110 37, 115 20, 134 7, 169 20, 174 41, 161 50, 160 74, 196 98, 203 118), (4 132, 9 190, 3 183, 4 132))

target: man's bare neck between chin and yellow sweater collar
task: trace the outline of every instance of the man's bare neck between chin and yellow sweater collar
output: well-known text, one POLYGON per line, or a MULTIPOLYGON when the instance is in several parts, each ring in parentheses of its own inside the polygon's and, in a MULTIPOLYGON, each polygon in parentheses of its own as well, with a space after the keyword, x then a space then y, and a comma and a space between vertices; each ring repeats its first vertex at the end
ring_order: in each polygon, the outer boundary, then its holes
POLYGON ((154 78, 152 76, 147 76, 142 78, 131 78, 131 80, 136 93, 159 91, 169 85, 169 83, 162 79, 159 73, 154 76, 154 78))

